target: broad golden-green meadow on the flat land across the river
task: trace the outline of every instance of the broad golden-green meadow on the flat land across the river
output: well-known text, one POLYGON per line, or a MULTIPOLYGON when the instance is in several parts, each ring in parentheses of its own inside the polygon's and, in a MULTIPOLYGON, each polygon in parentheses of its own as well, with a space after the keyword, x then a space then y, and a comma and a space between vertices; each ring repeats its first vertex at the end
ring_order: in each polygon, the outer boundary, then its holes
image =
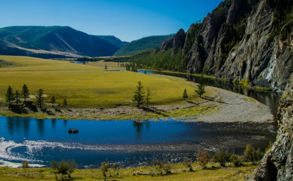
MULTIPOLYGON (((195 83, 180 78, 145 75, 130 71, 111 71, 115 65, 109 63, 109 69, 74 64, 65 61, 47 60, 32 57, 0 56, 0 60, 13 65, 0 68, 0 101, 4 102, 7 87, 21 91, 25 83, 30 94, 36 94, 39 88, 48 95, 47 102, 55 96, 61 104, 66 98, 73 107, 113 107, 134 105, 131 99, 137 81, 152 91, 152 105, 183 103, 182 94, 186 88, 188 100, 198 102, 202 99, 195 94, 195 83)), ((2 61, 2 62, 3 62, 2 61)), ((104 62, 95 62, 103 64, 104 62)), ((206 88, 206 96, 213 97, 215 92, 206 88)))

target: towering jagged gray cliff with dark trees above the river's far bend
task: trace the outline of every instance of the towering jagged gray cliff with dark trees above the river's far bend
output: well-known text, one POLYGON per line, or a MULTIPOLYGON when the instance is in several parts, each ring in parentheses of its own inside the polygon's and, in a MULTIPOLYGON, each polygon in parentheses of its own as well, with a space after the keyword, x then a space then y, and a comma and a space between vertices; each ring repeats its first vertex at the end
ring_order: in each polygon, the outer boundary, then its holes
MULTIPOLYGON (((220 3, 187 31, 182 51, 185 68, 189 73, 228 81, 249 79, 252 86, 285 90, 293 70, 292 4, 285 0, 220 3)), ((177 49, 178 44, 165 41, 161 51, 168 46, 177 49)))

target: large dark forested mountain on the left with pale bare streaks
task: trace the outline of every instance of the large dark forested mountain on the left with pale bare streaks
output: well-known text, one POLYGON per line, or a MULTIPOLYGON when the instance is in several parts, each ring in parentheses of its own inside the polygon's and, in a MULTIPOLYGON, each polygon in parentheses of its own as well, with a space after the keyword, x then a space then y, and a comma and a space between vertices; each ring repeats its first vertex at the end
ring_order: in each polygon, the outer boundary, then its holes
POLYGON ((68 26, 5 27, 0 28, 0 38, 1 47, 4 49, 13 47, 47 54, 54 52, 54 54, 97 57, 111 56, 119 49, 98 36, 88 35, 68 26))

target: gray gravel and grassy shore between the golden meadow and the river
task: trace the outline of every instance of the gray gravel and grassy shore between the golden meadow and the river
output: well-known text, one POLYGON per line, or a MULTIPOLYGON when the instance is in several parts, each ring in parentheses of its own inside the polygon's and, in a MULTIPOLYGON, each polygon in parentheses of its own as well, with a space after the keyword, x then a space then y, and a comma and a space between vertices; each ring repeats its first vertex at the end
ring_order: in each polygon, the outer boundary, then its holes
POLYGON ((203 96, 203 101, 175 105, 149 107, 115 106, 112 108, 62 107, 47 103, 46 111, 17 114, 1 105, 0 115, 10 117, 33 117, 39 119, 67 120, 169 120, 180 119, 192 122, 268 122, 273 121, 270 108, 257 100, 215 87, 214 97, 203 96))

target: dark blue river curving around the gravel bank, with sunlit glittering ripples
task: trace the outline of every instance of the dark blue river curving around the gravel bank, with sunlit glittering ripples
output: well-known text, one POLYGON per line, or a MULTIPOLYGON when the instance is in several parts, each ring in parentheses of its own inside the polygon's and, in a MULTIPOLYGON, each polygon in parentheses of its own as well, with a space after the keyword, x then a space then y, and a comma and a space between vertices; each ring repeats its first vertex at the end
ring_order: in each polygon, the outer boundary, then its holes
MULTIPOLYGON (((140 72, 143 73, 143 72, 140 72)), ((148 74, 162 73, 148 71, 148 74)), ((182 76, 197 81, 195 76, 182 76)), ((244 90, 227 83, 207 80, 211 86, 248 95, 276 111, 280 95, 244 90)), ((173 163, 185 157, 195 159, 198 149, 229 149, 241 153, 246 144, 264 148, 274 141, 277 126, 272 123, 202 123, 169 121, 88 121, 0 117, 0 162, 49 165, 52 159, 74 158, 81 168, 108 160, 120 165, 145 165, 154 158, 173 163), (69 128, 78 134, 69 134, 69 128)))

